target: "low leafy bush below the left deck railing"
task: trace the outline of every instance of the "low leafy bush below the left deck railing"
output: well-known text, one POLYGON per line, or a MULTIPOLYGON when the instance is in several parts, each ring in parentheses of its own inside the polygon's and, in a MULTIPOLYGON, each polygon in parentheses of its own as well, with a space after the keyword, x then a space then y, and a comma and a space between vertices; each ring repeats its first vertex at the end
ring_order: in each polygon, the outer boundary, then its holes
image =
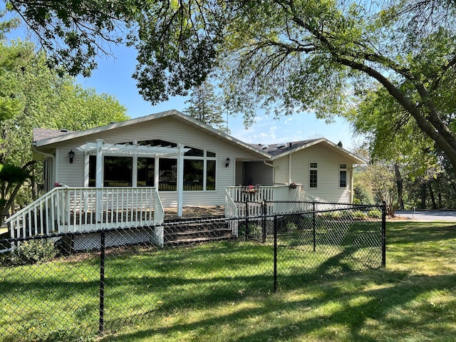
POLYGON ((14 250, 11 261, 16 265, 36 264, 49 261, 57 254, 58 250, 54 247, 53 241, 31 240, 14 250))

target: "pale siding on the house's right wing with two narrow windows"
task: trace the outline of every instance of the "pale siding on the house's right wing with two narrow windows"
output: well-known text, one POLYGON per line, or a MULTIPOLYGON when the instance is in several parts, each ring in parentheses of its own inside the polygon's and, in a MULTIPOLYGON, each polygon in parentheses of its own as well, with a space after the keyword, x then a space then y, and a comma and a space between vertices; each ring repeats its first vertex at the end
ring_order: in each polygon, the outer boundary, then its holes
MULTIPOLYGON (((274 160, 276 182, 287 182, 289 175, 289 155, 274 160)), ((304 191, 321 202, 351 202, 352 164, 343 154, 326 145, 318 144, 291 155, 291 182, 304 186, 304 191), (309 186, 309 167, 311 162, 318 163, 317 187, 309 186), (347 164, 347 186, 339 187, 339 165, 347 164)))

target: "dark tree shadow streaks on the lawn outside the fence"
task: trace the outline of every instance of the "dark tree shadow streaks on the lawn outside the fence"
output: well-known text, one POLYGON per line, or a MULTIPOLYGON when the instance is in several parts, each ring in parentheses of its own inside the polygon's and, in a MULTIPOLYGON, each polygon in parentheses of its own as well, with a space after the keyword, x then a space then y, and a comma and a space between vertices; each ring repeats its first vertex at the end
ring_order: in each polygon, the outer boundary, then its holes
MULTIPOLYGON (((145 338, 145 336, 172 336, 175 333, 185 331, 197 331, 206 329, 209 326, 223 326, 225 324, 233 324, 242 320, 247 320, 252 317, 258 318, 258 321, 269 319, 276 312, 287 312, 289 314, 297 313, 306 310, 314 311, 315 314, 307 315, 306 318, 297 318, 294 321, 284 319, 278 320, 277 324, 269 326, 266 329, 247 329, 242 331, 242 336, 236 338, 236 341, 288 341, 293 338, 304 338, 304 336, 312 333, 318 333, 331 326, 345 326, 348 328, 349 336, 346 336, 346 341, 378 341, 374 336, 366 334, 366 324, 368 321, 376 321, 383 326, 383 337, 385 340, 393 338, 398 341, 402 336, 401 331, 416 329, 417 326, 425 326, 429 323, 432 317, 413 314, 404 314, 403 316, 391 315, 395 309, 405 307, 412 303, 421 295, 432 292, 442 291, 455 286, 456 276, 407 276, 401 272, 383 271, 380 274, 370 274, 363 277, 353 277, 354 283, 366 284, 366 282, 375 284, 375 289, 360 289, 352 291, 351 289, 343 290, 336 282, 328 281, 324 286, 312 285, 311 290, 318 287, 318 296, 313 296, 311 299, 299 301, 287 301, 281 296, 271 296, 267 301, 269 304, 261 305, 254 309, 239 309, 231 314, 217 314, 209 318, 203 318, 192 323, 177 323, 165 328, 150 328, 146 330, 136 331, 134 333, 125 333, 122 336, 107 336, 101 338, 100 341, 128 341, 130 339, 145 338), (382 274, 380 276, 380 274, 382 274), (361 279, 361 280, 360 280, 361 279), (353 301, 362 296, 368 300, 361 304, 352 304, 353 301), (331 314, 318 314, 318 308, 321 308, 331 301, 338 301, 342 304, 342 308, 331 314), (249 331, 255 330, 249 333, 249 331), (389 337, 388 337, 389 336, 389 337)), ((350 281, 350 279, 345 279, 350 281)), ((360 284, 358 284, 360 285, 360 284)), ((303 290, 303 292, 305 292, 303 290)), ((253 299, 256 300, 256 299, 253 299)), ((264 299, 260 299, 264 301, 264 299)), ((222 302, 219 302, 222 304, 222 302)), ((228 304, 228 303, 227 303, 228 304)), ((448 306, 455 304, 448 303, 448 306)), ((424 302, 420 304, 426 306, 422 308, 431 309, 431 304, 424 302), (429 306, 429 308, 427 308, 429 306)), ((437 310, 444 310, 440 308, 437 310)), ((156 318, 165 318, 164 315, 157 314, 156 318)), ((437 312, 437 314, 439 314, 437 312)), ((304 316, 304 315, 303 315, 304 316)), ((430 315, 432 316, 432 315, 430 315)), ((206 317, 206 316, 204 316, 206 317)), ((454 317, 442 316, 440 323, 449 323, 454 325, 454 317)), ((242 328, 240 325, 239 328, 242 328)), ((427 331, 429 336, 438 336, 440 328, 436 327, 427 331)), ((456 333, 456 331, 447 331, 446 333, 456 333)), ((450 335, 448 335, 450 336, 450 335)), ((390 341, 393 341, 390 340, 390 341)), ((227 336, 224 341, 234 341, 227 336)), ((304 341, 304 340, 303 340, 304 341)), ((421 340, 423 341, 423 340, 421 340)))

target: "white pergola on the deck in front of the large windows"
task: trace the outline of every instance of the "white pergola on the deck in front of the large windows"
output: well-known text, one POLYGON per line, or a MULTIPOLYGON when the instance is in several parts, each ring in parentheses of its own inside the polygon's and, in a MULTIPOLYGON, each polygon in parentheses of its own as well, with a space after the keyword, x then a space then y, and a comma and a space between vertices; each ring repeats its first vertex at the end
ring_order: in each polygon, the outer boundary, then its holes
MULTIPOLYGON (((88 156, 96 155, 96 172, 95 187, 103 187, 103 155, 131 155, 133 157, 153 157, 155 158, 155 170, 159 170, 158 161, 160 157, 177 157, 177 215, 182 216, 182 200, 184 186, 184 153, 190 148, 178 144, 172 146, 150 146, 150 145, 129 145, 129 144, 108 144, 103 139, 97 139, 96 142, 86 142, 77 147, 86 157, 86 167, 84 180, 88 186, 88 156)), ((136 163, 133 162, 133 169, 136 163)), ((134 171, 134 170, 133 170, 134 171)), ((135 177, 136 172, 133 172, 135 177)), ((158 187, 159 172, 154 173, 154 187, 158 187)))

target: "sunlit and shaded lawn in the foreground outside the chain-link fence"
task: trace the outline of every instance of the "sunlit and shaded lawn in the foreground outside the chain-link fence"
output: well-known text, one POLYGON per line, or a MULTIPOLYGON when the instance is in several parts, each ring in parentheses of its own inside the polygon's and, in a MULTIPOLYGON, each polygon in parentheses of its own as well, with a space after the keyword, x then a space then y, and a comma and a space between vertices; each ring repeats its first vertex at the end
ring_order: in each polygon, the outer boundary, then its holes
POLYGON ((387 227, 385 269, 170 311, 102 341, 455 341, 456 226, 387 227))

